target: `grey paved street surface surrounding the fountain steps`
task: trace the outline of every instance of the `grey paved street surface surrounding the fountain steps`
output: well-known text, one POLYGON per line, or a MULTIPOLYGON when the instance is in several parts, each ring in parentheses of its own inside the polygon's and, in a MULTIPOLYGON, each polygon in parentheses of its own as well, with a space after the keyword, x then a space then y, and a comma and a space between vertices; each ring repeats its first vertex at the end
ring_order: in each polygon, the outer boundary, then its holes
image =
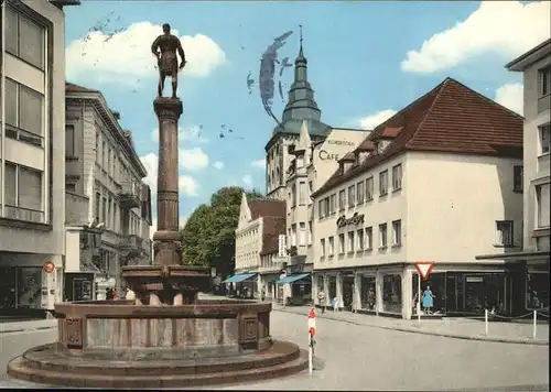
MULTIPOLYGON (((306 348, 307 318, 272 312, 276 339, 306 348)), ((55 330, 0 335, 0 380, 8 361, 26 348, 53 341, 55 330)), ((485 342, 408 334, 317 317, 316 357, 307 372, 222 389, 268 390, 549 390, 545 346, 485 342)), ((0 386, 32 386, 9 380, 0 386)))

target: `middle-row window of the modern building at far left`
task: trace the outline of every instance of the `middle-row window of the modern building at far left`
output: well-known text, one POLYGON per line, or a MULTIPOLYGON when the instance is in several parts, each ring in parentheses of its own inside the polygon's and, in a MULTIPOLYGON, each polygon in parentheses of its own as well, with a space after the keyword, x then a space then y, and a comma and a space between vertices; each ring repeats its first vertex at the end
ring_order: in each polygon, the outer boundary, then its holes
POLYGON ((6 78, 6 135, 42 146, 44 97, 6 78))

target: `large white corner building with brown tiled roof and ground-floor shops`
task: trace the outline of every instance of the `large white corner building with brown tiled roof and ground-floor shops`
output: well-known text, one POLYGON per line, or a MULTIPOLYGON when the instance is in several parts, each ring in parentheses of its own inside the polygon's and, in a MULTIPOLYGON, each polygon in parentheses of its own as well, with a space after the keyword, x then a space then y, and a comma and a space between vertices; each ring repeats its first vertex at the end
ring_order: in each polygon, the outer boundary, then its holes
MULTIPOLYGON (((434 311, 510 311, 503 261, 520 249, 522 118, 445 79, 378 126, 314 194, 314 297, 410 318, 414 262, 434 311)), ((317 300, 315 300, 317 302, 317 300)))

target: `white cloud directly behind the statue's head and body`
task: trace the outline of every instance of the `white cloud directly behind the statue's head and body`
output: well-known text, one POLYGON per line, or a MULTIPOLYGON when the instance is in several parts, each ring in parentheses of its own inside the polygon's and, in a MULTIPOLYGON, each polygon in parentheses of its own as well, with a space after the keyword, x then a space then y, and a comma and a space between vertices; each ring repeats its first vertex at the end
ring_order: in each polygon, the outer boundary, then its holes
MULTIPOLYGON (((172 33, 179 35, 177 30, 172 33)), ((67 79, 94 78, 134 85, 140 78, 154 78, 156 62, 149 45, 159 34, 162 34, 161 25, 138 22, 111 37, 97 31, 87 39, 75 40, 65 51, 67 79)), ((226 61, 224 51, 206 35, 180 39, 187 59, 183 74, 188 77, 208 76, 226 61)))

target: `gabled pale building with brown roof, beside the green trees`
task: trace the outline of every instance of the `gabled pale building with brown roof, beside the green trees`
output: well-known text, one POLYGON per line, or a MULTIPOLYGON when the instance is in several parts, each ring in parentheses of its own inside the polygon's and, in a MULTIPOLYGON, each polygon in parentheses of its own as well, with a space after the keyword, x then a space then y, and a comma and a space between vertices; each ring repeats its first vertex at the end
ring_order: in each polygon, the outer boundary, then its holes
POLYGON ((248 199, 244 193, 236 229, 235 274, 225 283, 233 283, 246 295, 259 296, 264 292, 272 298, 277 291, 274 281, 281 265, 274 263, 277 239, 285 232, 285 202, 276 199, 248 199), (276 239, 276 240, 274 240, 276 239))

